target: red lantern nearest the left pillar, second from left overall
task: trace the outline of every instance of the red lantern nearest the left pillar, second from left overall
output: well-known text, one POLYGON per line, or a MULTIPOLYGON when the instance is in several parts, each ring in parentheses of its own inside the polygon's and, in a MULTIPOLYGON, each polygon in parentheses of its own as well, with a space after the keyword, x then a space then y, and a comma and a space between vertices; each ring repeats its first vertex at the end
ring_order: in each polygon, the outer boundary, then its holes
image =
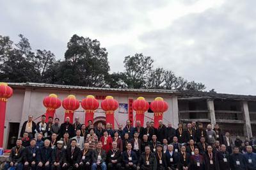
POLYGON ((61 100, 57 97, 57 95, 51 94, 44 98, 43 104, 47 108, 45 112, 45 121, 47 122, 49 117, 54 117, 56 109, 61 107, 61 100))

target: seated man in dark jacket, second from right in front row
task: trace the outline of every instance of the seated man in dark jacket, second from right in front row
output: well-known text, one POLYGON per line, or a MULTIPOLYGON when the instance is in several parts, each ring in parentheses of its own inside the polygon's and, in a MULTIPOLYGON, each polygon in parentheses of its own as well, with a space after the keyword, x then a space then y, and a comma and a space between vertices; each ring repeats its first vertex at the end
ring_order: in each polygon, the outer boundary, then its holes
POLYGON ((234 152, 230 155, 230 167, 232 170, 246 169, 246 159, 239 152, 239 147, 234 147, 234 152))

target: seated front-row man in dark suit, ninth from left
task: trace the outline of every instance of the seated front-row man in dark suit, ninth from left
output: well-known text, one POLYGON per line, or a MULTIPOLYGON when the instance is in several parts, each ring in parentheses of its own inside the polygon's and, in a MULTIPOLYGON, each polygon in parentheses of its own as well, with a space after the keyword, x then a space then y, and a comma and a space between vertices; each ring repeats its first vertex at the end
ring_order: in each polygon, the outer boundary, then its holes
POLYGON ((127 150, 123 152, 123 162, 125 169, 133 169, 136 170, 138 157, 134 151, 132 151, 132 144, 127 144, 127 150))

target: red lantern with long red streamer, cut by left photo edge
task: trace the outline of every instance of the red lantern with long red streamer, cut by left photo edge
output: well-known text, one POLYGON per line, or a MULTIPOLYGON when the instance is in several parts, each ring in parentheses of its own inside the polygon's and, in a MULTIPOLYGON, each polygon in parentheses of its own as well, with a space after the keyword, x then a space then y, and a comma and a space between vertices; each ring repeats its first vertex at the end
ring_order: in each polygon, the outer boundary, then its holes
POLYGON ((12 97, 12 94, 12 88, 10 88, 7 83, 0 82, 0 148, 3 147, 6 102, 7 98, 12 97))

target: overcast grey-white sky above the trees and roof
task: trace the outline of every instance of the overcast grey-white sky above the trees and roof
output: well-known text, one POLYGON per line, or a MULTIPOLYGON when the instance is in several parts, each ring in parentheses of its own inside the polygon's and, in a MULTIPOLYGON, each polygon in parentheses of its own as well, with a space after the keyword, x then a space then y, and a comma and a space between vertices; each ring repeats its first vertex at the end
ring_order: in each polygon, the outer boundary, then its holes
POLYGON ((74 34, 100 41, 111 72, 142 52, 218 93, 256 95, 256 1, 1 1, 0 35, 63 58, 74 34))

